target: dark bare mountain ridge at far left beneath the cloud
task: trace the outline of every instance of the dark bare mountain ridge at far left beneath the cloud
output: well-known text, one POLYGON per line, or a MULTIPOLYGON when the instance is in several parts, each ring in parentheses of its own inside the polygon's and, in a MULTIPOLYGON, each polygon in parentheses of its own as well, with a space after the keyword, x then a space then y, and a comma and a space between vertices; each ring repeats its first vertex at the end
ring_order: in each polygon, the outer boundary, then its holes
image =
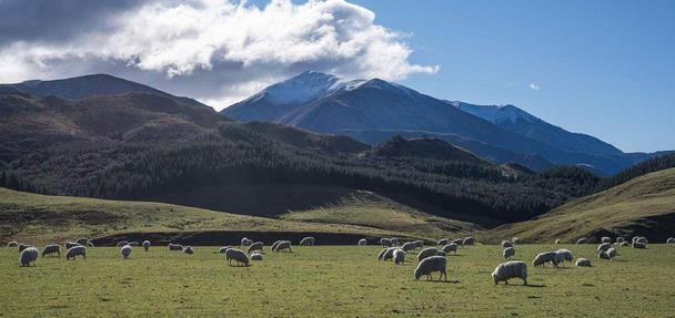
POLYGON ((109 74, 92 74, 53 81, 31 80, 14 84, 3 84, 0 88, 13 88, 38 98, 56 96, 64 100, 79 100, 91 96, 112 96, 129 93, 145 93, 170 98, 177 103, 209 107, 189 98, 173 96, 169 93, 109 74))

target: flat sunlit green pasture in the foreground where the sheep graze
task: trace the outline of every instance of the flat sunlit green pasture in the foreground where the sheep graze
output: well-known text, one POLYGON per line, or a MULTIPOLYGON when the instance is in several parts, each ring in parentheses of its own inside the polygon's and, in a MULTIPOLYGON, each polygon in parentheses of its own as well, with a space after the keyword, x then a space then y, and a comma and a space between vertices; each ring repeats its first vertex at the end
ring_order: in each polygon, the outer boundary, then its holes
MULTIPOLYGON (((523 245, 527 263, 562 246, 523 245)), ((40 258, 21 268, 0 249, 2 317, 675 317, 675 246, 622 248, 601 261, 595 246, 565 246, 594 267, 533 268, 528 283, 494 286, 501 247, 449 256, 450 283, 414 280, 415 255, 394 266, 376 246, 296 247, 266 252, 250 267, 229 267, 216 247, 194 255, 95 247, 88 259, 40 258)))

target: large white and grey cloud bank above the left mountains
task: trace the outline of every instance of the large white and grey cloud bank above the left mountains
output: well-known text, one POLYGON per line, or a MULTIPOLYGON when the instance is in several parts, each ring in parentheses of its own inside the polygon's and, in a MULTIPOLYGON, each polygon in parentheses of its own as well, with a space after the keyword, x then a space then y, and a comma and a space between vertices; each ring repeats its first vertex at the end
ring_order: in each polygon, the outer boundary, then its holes
POLYGON ((12 34, 0 37, 0 82, 105 72, 221 109, 306 70, 394 81, 437 71, 411 63, 403 34, 344 0, 272 0, 263 8, 222 0, 40 3, 59 10, 0 1, 2 17, 32 12, 0 22, 0 34, 12 34))

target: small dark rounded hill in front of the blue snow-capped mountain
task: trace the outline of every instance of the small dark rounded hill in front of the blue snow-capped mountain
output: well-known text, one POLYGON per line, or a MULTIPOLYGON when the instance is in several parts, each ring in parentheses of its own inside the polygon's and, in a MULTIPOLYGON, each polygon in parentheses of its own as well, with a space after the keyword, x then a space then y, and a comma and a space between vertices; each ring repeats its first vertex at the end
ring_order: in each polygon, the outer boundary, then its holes
POLYGON ((484 163, 483 160, 471 152, 436 139, 406 140, 402 136, 394 136, 373 148, 372 154, 382 157, 423 157, 484 163))

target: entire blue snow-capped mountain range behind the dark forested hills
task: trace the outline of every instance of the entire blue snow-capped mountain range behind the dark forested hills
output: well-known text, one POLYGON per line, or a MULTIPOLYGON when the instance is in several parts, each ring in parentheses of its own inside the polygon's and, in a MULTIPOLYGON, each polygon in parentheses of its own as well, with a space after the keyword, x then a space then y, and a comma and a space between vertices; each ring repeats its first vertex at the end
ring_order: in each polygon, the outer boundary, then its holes
POLYGON ((624 154, 515 107, 495 111, 466 105, 380 79, 342 81, 304 72, 221 113, 240 121, 266 121, 347 135, 372 145, 394 135, 442 139, 496 163, 515 162, 537 171, 583 164, 608 175, 649 157, 624 154))

